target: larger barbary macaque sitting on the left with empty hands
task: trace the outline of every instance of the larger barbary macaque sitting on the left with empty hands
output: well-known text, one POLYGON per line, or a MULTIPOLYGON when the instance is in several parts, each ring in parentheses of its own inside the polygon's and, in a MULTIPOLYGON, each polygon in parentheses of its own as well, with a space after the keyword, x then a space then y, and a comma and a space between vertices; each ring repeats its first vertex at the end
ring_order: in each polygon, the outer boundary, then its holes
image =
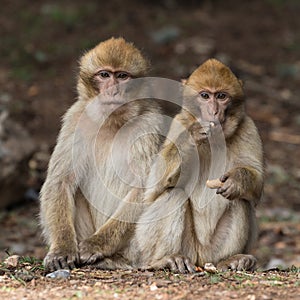
POLYGON ((139 201, 165 126, 158 102, 127 101, 128 89, 134 96, 139 88, 128 83, 144 77, 148 68, 141 52, 123 38, 101 42, 80 60, 78 100, 63 118, 40 193, 49 245, 44 265, 50 271, 103 257, 117 267, 113 255, 123 261, 134 229, 127 221, 139 208, 122 207, 139 201), (114 218, 118 213, 123 219, 114 218))

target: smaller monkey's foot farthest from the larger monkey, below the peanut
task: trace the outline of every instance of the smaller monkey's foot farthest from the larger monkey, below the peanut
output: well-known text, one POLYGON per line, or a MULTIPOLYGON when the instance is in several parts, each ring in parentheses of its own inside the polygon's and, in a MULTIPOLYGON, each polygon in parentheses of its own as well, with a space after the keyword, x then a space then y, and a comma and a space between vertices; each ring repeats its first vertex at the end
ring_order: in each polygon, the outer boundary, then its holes
POLYGON ((254 271, 257 259, 253 255, 236 254, 218 263, 217 269, 221 271, 254 271))

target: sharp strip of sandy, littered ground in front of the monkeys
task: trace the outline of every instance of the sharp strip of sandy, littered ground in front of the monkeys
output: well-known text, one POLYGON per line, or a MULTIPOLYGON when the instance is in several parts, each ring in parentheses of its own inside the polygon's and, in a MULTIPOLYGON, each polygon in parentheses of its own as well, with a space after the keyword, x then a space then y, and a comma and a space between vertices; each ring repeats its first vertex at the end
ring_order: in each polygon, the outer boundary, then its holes
POLYGON ((11 269, 14 279, 0 276, 3 299, 299 299, 299 269, 193 275, 80 269, 70 279, 49 279, 24 265, 11 269))

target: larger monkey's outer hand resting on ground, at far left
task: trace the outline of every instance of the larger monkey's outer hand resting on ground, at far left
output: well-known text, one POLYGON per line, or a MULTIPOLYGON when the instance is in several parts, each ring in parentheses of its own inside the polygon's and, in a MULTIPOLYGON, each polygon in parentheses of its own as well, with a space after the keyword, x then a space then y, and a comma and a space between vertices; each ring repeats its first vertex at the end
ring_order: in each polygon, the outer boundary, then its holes
POLYGON ((75 251, 49 251, 44 258, 44 266, 51 272, 59 269, 74 269, 76 262, 78 262, 78 253, 75 251))

